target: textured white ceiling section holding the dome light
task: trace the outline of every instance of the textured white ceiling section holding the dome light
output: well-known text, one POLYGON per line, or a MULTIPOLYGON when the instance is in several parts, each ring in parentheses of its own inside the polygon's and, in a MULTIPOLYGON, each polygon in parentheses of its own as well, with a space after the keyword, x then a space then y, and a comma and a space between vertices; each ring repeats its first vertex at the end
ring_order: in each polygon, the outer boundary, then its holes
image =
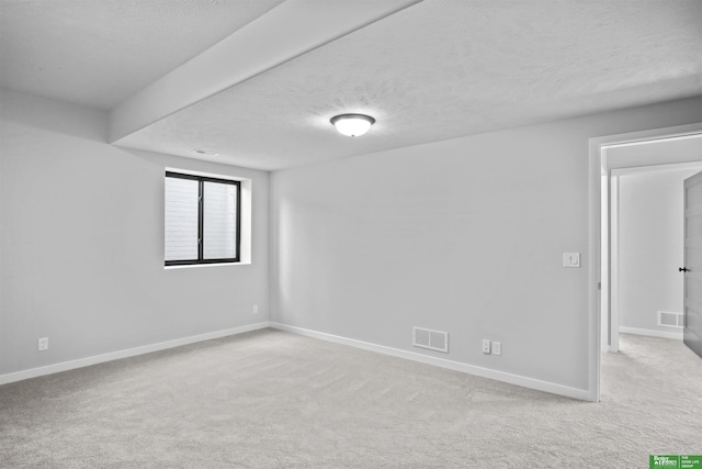
POLYGON ((424 0, 120 144, 279 169, 702 94, 701 7, 424 0), (342 112, 377 123, 343 137, 342 112))

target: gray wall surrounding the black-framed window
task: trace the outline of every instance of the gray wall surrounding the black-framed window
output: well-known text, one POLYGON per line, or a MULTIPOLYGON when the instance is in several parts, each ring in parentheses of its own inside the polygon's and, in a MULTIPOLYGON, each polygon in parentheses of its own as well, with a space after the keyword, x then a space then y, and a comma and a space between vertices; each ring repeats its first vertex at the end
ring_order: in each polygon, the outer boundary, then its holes
POLYGON ((1 104, 0 375, 268 320, 268 172, 107 145, 101 111, 1 104), (165 167, 252 179, 251 265, 163 269, 165 167))

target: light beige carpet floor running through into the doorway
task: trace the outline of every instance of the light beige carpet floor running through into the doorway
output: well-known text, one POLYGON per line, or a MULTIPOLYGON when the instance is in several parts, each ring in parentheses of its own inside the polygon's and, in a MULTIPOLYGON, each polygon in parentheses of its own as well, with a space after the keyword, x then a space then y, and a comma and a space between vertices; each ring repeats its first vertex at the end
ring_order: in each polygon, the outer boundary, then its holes
POLYGON ((0 387, 2 468, 647 468, 702 359, 623 335, 599 404, 264 330, 0 387))

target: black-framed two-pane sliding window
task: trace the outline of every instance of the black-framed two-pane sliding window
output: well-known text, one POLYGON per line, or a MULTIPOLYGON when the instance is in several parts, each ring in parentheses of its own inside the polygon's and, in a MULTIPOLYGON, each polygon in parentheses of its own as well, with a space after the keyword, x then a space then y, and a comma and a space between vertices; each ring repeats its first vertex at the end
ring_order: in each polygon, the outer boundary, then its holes
POLYGON ((241 183, 166 171, 167 266, 238 263, 241 183))

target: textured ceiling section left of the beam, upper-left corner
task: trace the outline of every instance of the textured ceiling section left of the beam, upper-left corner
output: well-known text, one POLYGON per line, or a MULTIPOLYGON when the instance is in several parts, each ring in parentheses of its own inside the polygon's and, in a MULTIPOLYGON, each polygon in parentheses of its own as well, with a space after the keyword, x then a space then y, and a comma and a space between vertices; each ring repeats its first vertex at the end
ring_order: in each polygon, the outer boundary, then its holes
POLYGON ((112 108, 283 0, 0 0, 0 85, 112 108))

